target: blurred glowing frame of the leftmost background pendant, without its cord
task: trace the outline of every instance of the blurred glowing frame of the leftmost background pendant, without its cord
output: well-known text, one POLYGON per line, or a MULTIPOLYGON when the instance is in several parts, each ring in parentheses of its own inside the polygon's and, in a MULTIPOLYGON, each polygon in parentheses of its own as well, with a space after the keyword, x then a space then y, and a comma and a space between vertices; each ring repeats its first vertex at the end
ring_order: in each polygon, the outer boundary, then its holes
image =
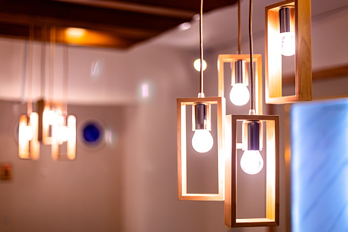
POLYGON ((38 142, 38 114, 31 113, 28 118, 27 114, 21 115, 19 118, 18 127, 18 156, 21 159, 39 159, 40 157, 40 142, 38 142), (31 126, 33 129, 33 138, 23 140, 21 137, 21 129, 23 127, 31 126))

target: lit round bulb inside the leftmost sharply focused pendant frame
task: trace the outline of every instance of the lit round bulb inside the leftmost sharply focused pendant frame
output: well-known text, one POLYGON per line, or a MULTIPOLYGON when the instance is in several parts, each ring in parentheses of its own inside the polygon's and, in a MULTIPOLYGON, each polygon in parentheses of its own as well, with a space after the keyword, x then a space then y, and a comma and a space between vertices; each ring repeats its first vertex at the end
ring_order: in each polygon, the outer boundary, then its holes
POLYGON ((195 131, 192 137, 192 146, 193 149, 199 153, 206 153, 210 151, 213 147, 214 140, 213 136, 207 129, 198 129, 195 131))

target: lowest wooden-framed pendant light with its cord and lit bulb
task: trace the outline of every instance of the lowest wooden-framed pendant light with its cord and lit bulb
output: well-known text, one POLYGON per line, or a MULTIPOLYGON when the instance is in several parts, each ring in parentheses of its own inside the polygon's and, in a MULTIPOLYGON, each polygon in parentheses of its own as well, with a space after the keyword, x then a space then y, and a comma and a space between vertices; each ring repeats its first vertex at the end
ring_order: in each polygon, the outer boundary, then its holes
MULTIPOLYGON (((249 10, 250 60, 253 60, 252 0, 249 10)), ((228 227, 272 227, 279 224, 279 116, 257 115, 254 103, 254 68, 250 62, 250 112, 249 115, 226 117, 226 141, 231 141, 226 157, 225 224, 228 227), (259 153, 263 149, 263 122, 266 125, 266 218, 237 218, 237 122, 242 122, 241 169, 256 175, 263 168, 259 153)))

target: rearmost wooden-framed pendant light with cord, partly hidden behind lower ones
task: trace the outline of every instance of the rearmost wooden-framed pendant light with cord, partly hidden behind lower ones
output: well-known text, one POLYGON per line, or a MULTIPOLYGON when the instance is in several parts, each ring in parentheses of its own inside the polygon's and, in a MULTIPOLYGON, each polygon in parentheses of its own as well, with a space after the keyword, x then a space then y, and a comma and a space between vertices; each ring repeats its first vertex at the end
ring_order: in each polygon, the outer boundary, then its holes
POLYGON ((231 66, 231 90, 230 101, 237 106, 242 106, 250 101, 250 92, 247 89, 249 85, 247 64, 256 64, 256 114, 262 114, 263 90, 262 90, 262 57, 254 55, 250 62, 250 55, 241 54, 241 2, 238 1, 238 54, 228 55, 220 54, 218 57, 218 81, 219 96, 224 96, 224 63, 229 62, 231 66))

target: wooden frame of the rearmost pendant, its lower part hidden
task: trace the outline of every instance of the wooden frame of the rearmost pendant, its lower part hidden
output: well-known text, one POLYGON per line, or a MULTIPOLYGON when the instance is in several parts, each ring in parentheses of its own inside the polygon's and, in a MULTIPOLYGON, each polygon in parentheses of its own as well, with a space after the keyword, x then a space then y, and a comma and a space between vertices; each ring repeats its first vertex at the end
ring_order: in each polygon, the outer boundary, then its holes
MULTIPOLYGON (((230 55, 220 54, 218 57, 218 96, 224 96, 224 63, 234 62, 236 60, 245 60, 250 62, 250 55, 230 55)), ((256 62, 255 72, 255 92, 256 92, 256 114, 263 114, 263 72, 262 72, 262 56, 260 54, 253 55, 253 61, 256 62)))

